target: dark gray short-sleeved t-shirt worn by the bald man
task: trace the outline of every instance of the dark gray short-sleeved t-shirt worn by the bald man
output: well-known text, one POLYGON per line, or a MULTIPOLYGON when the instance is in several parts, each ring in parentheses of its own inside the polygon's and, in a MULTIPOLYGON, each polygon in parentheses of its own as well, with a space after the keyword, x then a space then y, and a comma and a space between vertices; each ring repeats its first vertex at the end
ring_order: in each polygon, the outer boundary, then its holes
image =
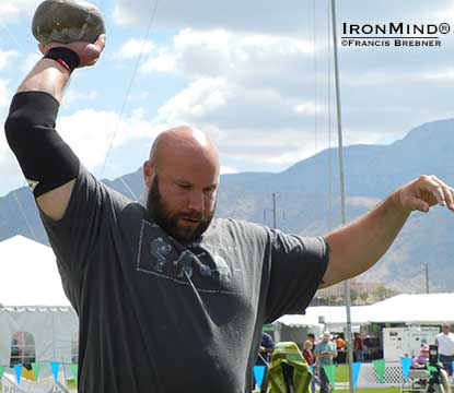
POLYGON ((216 219, 181 245, 81 166, 65 217, 42 213, 80 318, 83 393, 251 392, 261 325, 303 312, 323 238, 216 219))

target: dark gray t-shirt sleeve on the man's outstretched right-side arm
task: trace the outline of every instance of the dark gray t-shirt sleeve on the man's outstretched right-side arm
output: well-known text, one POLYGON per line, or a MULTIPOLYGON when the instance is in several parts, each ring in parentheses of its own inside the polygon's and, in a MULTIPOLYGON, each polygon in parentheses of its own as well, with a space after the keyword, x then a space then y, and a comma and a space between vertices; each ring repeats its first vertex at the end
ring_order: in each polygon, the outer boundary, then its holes
POLYGON ((304 238, 273 230, 267 323, 303 313, 328 265, 328 245, 322 237, 304 238))

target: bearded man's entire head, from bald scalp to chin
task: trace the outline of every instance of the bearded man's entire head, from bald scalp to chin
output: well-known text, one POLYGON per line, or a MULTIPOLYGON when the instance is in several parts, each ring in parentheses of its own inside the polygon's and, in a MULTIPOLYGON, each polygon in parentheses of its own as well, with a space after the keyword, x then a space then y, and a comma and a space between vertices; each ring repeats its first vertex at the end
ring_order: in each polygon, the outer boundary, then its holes
POLYGON ((219 172, 218 150, 203 132, 187 126, 162 132, 143 164, 151 217, 175 239, 198 238, 214 214, 219 172))

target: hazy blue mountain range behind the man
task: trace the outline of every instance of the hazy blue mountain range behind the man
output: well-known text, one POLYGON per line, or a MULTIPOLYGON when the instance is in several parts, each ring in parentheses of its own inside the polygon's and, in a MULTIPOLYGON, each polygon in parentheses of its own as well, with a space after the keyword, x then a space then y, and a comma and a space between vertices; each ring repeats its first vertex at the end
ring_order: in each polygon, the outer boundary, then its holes
MULTIPOLYGON (((394 189, 420 175, 435 175, 454 184, 454 120, 439 120, 412 129, 389 145, 351 145, 344 150, 348 221, 364 214, 394 189)), ((291 143, 291 142, 289 142, 291 143)), ((281 172, 222 175, 217 215, 273 225, 313 236, 340 225, 337 150, 325 150, 281 172)), ((133 198, 142 190, 141 168, 107 186, 133 198)), ((424 291, 426 266, 431 291, 454 291, 454 216, 434 207, 414 213, 398 238, 360 281, 383 283, 399 291, 424 291), (451 239, 451 240, 450 240, 451 239)), ((23 235, 47 243, 28 189, 0 198, 0 241, 23 235)), ((351 239, 354 241, 354 239, 351 239)))

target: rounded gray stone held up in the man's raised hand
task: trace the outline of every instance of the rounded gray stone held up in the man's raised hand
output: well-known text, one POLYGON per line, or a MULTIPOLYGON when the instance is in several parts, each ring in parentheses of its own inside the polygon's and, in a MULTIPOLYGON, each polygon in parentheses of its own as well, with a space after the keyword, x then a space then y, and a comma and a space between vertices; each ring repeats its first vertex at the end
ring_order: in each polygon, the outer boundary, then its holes
POLYGON ((32 33, 44 45, 94 43, 105 24, 100 10, 86 1, 45 0, 35 11, 32 33))

